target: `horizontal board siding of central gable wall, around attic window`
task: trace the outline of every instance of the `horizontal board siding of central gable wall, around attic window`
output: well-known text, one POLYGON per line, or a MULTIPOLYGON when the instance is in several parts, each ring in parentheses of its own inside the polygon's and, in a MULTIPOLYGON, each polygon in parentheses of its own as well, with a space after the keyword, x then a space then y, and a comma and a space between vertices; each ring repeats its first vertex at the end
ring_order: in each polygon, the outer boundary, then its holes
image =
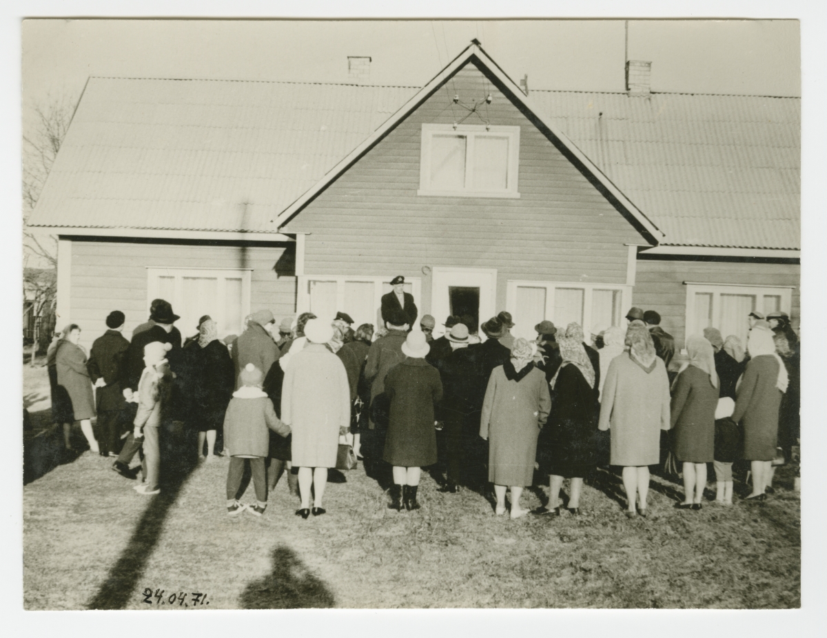
MULTIPOLYGON (((476 116, 468 124, 482 124, 476 116)), ((307 274, 406 274, 429 266, 498 270, 507 279, 625 283, 624 242, 645 243, 628 221, 479 69, 466 66, 389 136, 289 222, 307 238, 307 274), (520 126, 519 199, 418 196, 423 123, 451 124, 467 112, 520 126)), ((423 286, 429 289, 426 282, 423 286)), ((429 299, 423 300, 428 305, 429 299)), ((427 308, 428 306, 426 306, 427 308)))

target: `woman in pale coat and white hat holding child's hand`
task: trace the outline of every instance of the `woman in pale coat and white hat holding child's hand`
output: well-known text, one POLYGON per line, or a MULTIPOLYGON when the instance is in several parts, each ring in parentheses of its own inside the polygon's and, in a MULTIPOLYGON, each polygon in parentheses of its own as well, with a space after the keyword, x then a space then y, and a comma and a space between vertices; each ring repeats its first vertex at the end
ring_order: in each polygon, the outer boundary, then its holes
POLYGON ((342 361, 327 349, 333 329, 329 323, 311 319, 304 326, 308 343, 296 352, 284 371, 281 390, 281 420, 293 431, 292 462, 299 468, 301 507, 296 516, 313 516, 322 507, 327 469, 336 467, 339 436, 351 423, 351 391, 342 361))

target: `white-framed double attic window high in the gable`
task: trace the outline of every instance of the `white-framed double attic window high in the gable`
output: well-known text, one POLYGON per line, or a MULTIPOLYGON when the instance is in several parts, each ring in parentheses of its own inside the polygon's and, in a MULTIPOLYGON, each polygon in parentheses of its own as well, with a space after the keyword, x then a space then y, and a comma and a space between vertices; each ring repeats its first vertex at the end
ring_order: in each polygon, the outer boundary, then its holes
POLYGON ((423 124, 418 195, 519 198, 519 126, 423 124))

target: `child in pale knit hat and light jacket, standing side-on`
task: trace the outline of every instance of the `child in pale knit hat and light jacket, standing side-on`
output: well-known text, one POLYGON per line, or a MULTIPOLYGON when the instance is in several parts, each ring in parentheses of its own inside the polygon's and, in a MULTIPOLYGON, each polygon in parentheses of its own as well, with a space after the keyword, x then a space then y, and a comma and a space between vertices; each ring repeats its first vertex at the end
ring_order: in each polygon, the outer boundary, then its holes
POLYGON ((160 444, 161 420, 170 396, 172 373, 166 353, 172 344, 152 341, 144 346, 144 371, 138 382, 138 412, 135 415, 136 440, 143 439, 144 483, 136 485, 139 494, 152 496, 160 493, 160 444))

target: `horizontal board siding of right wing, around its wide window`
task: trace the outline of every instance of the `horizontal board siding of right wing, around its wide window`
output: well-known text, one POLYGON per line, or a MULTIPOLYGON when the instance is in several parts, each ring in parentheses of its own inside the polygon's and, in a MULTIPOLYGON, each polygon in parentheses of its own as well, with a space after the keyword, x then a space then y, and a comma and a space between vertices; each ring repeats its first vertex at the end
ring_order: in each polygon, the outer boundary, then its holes
MULTIPOLYGON (((798 329, 801 318, 801 266, 797 264, 740 264, 705 261, 638 259, 633 303, 661 314, 661 326, 683 347, 686 339, 685 281, 745 286, 790 286, 791 320, 798 329)), ((726 336, 726 335, 724 335, 726 336)))

